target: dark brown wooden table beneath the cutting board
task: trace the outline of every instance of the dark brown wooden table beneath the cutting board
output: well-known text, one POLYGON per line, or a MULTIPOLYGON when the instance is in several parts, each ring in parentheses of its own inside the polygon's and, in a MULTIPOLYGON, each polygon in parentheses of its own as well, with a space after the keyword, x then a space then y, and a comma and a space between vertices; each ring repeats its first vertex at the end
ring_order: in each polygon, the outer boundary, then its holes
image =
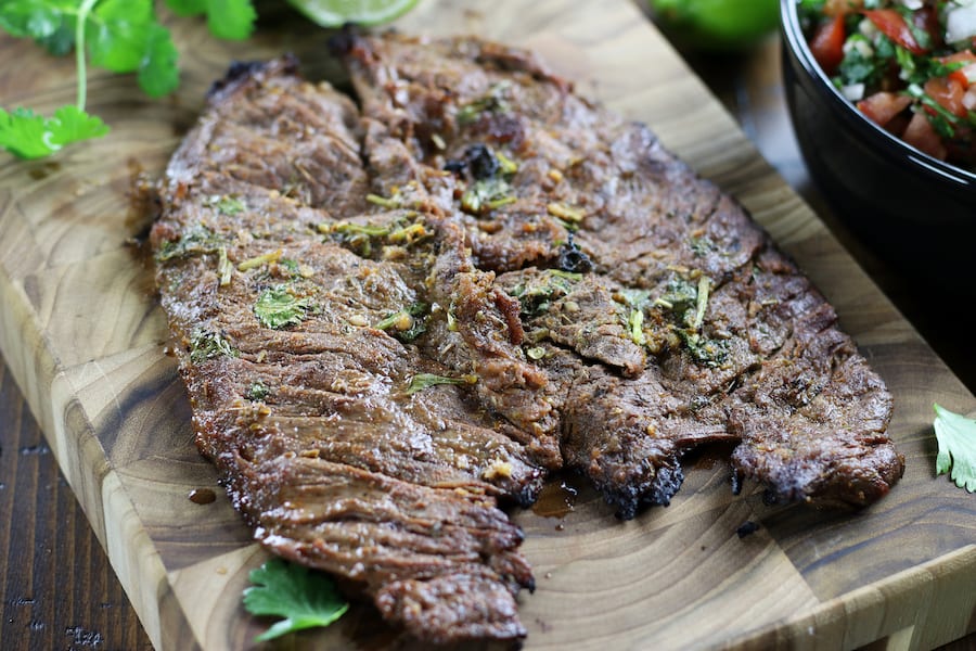
MULTIPOLYGON (((947 327, 967 322, 964 302, 942 302, 934 310, 932 288, 914 286, 864 250, 813 187, 786 114, 776 39, 739 55, 689 53, 688 59, 766 158, 976 391, 967 329, 947 327)), ((0 649, 151 649, 5 363, 0 366, 0 649)), ((950 650, 976 651, 976 635, 943 649, 950 650)))

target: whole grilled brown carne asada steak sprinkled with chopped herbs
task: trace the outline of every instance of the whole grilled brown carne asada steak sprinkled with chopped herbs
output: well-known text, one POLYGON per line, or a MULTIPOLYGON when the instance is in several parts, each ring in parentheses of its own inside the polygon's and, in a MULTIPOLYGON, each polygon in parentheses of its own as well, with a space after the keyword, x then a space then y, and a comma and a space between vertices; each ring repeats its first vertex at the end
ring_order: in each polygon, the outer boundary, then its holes
POLYGON ((345 35, 359 105, 235 65, 151 243, 197 445, 274 553, 435 643, 525 635, 550 471, 621 518, 737 444, 771 499, 882 497, 891 398, 734 201, 530 54, 345 35))

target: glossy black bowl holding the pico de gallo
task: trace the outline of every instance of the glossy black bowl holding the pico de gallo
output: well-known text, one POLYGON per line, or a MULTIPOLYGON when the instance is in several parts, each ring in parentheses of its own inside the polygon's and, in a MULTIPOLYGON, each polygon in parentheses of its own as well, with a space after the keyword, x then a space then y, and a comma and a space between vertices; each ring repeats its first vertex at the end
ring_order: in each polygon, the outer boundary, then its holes
POLYGON ((868 119, 813 59, 796 0, 780 0, 780 17, 793 128, 837 218, 900 273, 976 284, 976 174, 933 158, 868 119))

